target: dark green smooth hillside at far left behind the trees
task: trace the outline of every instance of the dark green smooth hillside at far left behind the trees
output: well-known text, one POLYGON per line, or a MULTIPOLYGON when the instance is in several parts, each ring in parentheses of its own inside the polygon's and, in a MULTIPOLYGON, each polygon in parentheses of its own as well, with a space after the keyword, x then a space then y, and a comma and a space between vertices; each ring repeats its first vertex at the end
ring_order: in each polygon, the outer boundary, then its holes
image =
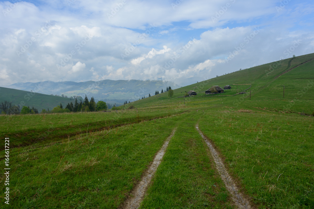
POLYGON ((35 107, 39 112, 42 109, 52 110, 53 107, 60 105, 60 103, 62 103, 63 107, 69 102, 74 103, 69 98, 0 87, 0 102, 2 101, 12 102, 12 105, 18 105, 19 107, 35 107))

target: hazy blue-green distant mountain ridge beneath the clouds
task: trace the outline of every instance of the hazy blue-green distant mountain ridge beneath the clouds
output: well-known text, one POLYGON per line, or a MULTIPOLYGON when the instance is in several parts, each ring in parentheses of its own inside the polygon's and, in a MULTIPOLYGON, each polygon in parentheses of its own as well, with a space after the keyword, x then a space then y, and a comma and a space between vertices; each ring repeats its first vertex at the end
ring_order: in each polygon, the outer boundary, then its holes
POLYGON ((42 94, 66 95, 85 97, 85 94, 95 100, 123 103, 135 101, 142 97, 154 95, 155 91, 165 90, 167 86, 176 89, 180 86, 170 81, 140 81, 140 80, 102 80, 102 81, 42 81, 37 83, 19 82, 6 86, 8 88, 34 91, 42 94))

